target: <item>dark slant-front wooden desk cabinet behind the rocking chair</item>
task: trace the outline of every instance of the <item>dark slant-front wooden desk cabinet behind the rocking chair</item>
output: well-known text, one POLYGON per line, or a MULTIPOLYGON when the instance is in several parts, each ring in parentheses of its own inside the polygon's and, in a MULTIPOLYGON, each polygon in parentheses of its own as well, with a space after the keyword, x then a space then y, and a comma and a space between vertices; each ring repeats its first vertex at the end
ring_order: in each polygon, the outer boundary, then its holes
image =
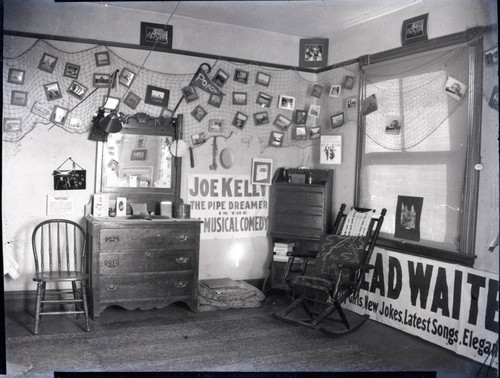
MULTIPOLYGON (((333 170, 279 168, 270 193, 270 248, 295 242, 295 250, 316 249, 322 234, 331 229, 333 170)), ((267 287, 287 289, 286 262, 272 261, 267 287)))

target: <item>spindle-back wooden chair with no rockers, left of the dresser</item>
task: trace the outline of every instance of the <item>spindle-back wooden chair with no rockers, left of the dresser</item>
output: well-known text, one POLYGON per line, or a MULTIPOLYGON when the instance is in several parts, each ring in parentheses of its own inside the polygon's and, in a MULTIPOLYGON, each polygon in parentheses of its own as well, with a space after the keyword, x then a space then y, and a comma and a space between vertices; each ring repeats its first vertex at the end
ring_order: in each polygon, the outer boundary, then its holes
POLYGON ((85 290, 88 275, 85 273, 87 233, 79 224, 65 219, 50 219, 39 223, 32 234, 32 248, 35 257, 37 282, 35 334, 42 315, 84 314, 85 327, 90 331, 87 293, 85 290), (47 283, 56 284, 58 289, 54 299, 45 298, 47 283), (59 287, 71 282, 72 289, 59 287), (80 289, 77 287, 80 284, 80 289), (63 289, 63 290, 61 290, 63 289), (67 293, 70 294, 68 298, 67 293), (67 309, 67 304, 74 304, 67 309), (43 311, 45 304, 63 305, 64 310, 43 311), (64 306, 66 305, 66 306, 64 306), (72 308, 72 307, 71 307, 72 308))

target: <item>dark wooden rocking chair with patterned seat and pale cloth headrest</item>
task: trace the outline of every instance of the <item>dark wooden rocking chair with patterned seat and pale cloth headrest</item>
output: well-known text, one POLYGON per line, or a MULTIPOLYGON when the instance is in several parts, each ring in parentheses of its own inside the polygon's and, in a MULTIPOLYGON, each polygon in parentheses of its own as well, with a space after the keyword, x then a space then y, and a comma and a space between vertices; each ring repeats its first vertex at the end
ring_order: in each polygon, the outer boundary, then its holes
POLYGON ((293 259, 297 257, 308 259, 315 256, 315 269, 313 273, 305 274, 307 264, 302 263, 299 270, 302 275, 289 281, 295 300, 283 311, 273 313, 275 319, 317 329, 328 335, 352 332, 368 320, 369 315, 364 315, 357 324, 351 325, 342 304, 349 296, 356 298, 359 295, 365 273, 373 269, 368 262, 375 248, 386 209, 382 209, 378 217, 374 216, 374 210, 371 209, 353 208, 348 214, 345 214, 344 210, 345 204, 342 204, 332 234, 322 235, 317 253, 289 253, 290 260, 285 277, 288 272, 294 272, 293 259), (308 316, 304 320, 290 315, 300 308, 308 316), (317 311, 317 308, 323 310, 317 311), (340 319, 330 317, 335 311, 340 319), (335 331, 323 326, 322 322, 327 318, 340 321, 345 329, 335 331))

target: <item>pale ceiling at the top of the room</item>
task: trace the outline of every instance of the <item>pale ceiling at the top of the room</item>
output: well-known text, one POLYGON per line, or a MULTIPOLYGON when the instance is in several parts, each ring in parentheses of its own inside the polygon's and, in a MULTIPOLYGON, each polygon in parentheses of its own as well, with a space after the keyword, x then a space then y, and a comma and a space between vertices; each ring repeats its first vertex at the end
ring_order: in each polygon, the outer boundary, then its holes
POLYGON ((108 7, 239 25, 302 38, 328 37, 423 0, 101 1, 108 7))

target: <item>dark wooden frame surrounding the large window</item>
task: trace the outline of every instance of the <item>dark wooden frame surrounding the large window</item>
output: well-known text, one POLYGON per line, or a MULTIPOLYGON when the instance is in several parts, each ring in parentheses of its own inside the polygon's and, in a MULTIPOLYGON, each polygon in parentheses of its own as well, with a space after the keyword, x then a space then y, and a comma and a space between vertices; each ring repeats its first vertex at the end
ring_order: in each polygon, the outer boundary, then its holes
MULTIPOLYGON (((435 260, 458 263, 472 267, 475 261, 476 242, 476 217, 478 208, 479 192, 479 171, 475 165, 481 161, 481 117, 482 117, 482 88, 483 88, 483 33, 482 27, 468 29, 465 32, 455 33, 427 41, 422 41, 414 45, 407 45, 400 48, 384 51, 374 55, 366 55, 359 60, 360 70, 363 67, 376 63, 391 63, 398 58, 409 57, 416 54, 430 52, 432 50, 445 47, 459 47, 466 44, 469 47, 469 82, 471 89, 468 95, 467 111, 467 152, 465 156, 465 182, 463 188, 463 212, 460 219, 460 241, 459 251, 449 251, 446 249, 433 248, 411 243, 406 240, 393 240, 379 236, 377 245, 389 250, 423 256, 435 260)), ((366 97, 364 89, 365 80, 361 77, 360 98, 366 97)), ((364 118, 358 111, 358 125, 363 125, 364 118)), ((364 154, 364 143, 366 134, 360 127, 357 140, 356 151, 356 175, 354 203, 360 204, 360 175, 362 158, 364 154)))

